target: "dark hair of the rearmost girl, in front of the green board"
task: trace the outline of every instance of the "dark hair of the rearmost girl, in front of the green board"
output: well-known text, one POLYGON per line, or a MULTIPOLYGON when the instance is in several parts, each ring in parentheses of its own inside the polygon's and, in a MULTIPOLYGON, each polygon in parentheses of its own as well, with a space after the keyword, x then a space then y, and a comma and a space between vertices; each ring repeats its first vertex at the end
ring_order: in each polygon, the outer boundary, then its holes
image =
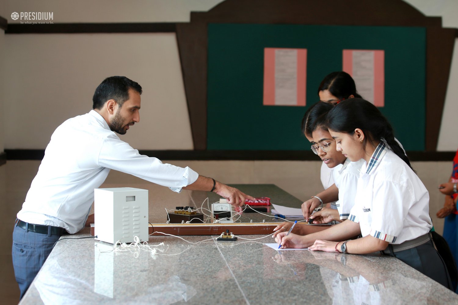
POLYGON ((344 71, 336 71, 326 75, 318 87, 318 93, 322 90, 329 90, 333 96, 340 100, 346 100, 350 95, 361 98, 356 92, 353 78, 344 71))

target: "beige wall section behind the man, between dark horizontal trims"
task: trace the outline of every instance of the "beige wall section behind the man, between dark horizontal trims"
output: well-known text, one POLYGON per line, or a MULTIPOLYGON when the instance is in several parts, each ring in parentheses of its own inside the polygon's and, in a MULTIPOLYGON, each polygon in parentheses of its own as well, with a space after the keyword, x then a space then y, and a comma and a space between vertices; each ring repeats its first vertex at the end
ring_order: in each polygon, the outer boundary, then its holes
POLYGON ((67 118, 92 109, 96 86, 125 75, 143 86, 136 149, 193 149, 174 33, 6 35, 9 149, 44 149, 67 118), (33 132, 31 132, 33 131, 33 132))

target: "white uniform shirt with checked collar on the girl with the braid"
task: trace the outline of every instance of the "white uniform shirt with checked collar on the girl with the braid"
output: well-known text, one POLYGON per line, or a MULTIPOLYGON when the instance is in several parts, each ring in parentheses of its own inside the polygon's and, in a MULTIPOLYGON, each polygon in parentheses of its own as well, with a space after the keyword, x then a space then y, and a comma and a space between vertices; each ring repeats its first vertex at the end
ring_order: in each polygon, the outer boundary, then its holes
POLYGON ((420 178, 381 142, 364 161, 349 219, 363 236, 400 244, 428 233, 429 193, 420 178))

